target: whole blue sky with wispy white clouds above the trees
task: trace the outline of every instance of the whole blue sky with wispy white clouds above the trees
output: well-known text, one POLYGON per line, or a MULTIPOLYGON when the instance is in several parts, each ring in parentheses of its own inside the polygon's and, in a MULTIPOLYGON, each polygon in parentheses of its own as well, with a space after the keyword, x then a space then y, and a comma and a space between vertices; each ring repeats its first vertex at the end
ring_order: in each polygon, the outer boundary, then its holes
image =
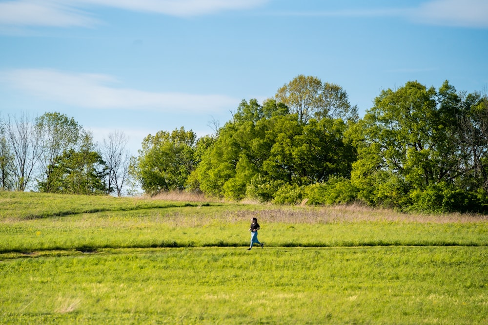
POLYGON ((133 155, 298 75, 360 116, 407 81, 487 92, 488 0, 0 0, 0 117, 60 112, 133 155))

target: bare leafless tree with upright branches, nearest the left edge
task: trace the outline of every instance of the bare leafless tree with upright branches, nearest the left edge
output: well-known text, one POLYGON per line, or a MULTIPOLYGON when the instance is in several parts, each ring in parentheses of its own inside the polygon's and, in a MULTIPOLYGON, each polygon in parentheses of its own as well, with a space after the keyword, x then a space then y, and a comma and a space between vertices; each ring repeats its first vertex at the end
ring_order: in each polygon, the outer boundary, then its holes
POLYGON ((34 167, 39 159, 39 140, 35 131, 34 120, 23 113, 17 117, 8 117, 6 140, 12 150, 12 175, 14 188, 25 191, 33 176, 34 167))

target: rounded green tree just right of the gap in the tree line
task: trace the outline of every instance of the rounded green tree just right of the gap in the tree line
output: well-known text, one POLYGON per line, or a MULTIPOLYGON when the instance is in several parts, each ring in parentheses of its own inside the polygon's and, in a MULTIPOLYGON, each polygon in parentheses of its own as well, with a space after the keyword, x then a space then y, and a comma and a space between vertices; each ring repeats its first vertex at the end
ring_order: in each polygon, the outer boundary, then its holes
POLYGON ((132 173, 147 193, 184 190, 191 172, 196 168, 196 134, 175 129, 159 131, 142 140, 132 173))

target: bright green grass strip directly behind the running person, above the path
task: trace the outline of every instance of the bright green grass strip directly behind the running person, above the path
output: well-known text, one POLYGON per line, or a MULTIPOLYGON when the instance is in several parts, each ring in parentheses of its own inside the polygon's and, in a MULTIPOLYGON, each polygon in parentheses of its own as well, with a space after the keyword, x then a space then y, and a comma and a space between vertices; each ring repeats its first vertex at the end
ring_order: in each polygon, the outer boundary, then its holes
POLYGON ((259 239, 271 247, 488 246, 488 224, 484 221, 324 221, 318 213, 314 220, 314 210, 306 210, 308 222, 293 223, 304 215, 303 208, 284 208, 289 213, 252 208, 184 206, 4 219, 0 222, 0 252, 244 247, 249 243, 251 216, 258 216, 259 239), (289 214, 298 217, 290 218, 289 214), (285 222, 288 220, 290 223, 285 222))

